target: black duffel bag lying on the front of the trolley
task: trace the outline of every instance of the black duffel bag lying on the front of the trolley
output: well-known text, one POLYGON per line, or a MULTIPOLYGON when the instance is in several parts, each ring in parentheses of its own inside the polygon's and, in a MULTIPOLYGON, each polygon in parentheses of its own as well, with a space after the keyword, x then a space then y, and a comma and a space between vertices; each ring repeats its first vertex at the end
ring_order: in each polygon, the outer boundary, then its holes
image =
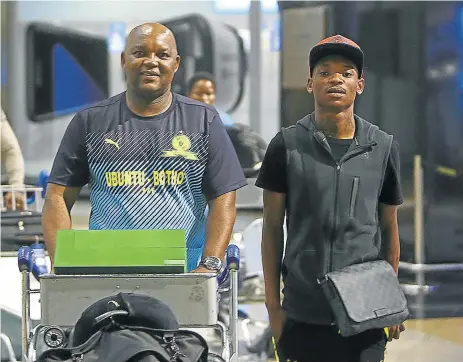
POLYGON ((208 355, 204 338, 180 330, 166 304, 119 293, 82 313, 68 348, 49 349, 36 362, 207 362, 208 355))

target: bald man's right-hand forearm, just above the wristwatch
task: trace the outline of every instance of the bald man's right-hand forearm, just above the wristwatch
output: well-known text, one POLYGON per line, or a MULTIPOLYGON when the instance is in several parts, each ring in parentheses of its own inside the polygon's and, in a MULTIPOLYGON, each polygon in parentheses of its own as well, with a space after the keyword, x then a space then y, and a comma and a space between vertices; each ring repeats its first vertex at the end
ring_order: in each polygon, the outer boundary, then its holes
POLYGON ((211 203, 203 256, 225 257, 236 219, 235 196, 219 196, 211 203))

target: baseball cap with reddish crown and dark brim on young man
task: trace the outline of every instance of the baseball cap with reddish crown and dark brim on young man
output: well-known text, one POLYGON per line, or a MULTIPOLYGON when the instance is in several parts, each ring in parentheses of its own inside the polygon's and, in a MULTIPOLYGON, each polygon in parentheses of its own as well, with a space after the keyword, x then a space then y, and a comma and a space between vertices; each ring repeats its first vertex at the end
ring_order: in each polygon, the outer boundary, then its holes
POLYGON ((320 61, 320 59, 329 55, 341 55, 351 60, 359 75, 363 72, 363 51, 358 44, 342 35, 334 35, 329 38, 321 40, 310 50, 309 66, 310 74, 312 75, 313 68, 320 61))

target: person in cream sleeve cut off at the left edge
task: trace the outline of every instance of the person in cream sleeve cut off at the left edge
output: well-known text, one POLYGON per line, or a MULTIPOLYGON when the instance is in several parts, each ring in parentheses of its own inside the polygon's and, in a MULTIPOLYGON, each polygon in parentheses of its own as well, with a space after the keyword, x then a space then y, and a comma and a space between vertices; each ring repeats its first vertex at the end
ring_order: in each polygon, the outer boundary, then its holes
MULTIPOLYGON (((2 171, 4 170, 6 172, 9 186, 21 188, 24 186, 24 158, 21 153, 21 148, 19 147, 18 139, 8 122, 3 108, 1 113, 1 123, 2 171)), ((15 193, 15 207, 17 210, 24 209, 24 199, 25 195, 23 193, 15 193)), ((8 209, 13 208, 13 194, 11 192, 4 194, 3 206, 8 209)))

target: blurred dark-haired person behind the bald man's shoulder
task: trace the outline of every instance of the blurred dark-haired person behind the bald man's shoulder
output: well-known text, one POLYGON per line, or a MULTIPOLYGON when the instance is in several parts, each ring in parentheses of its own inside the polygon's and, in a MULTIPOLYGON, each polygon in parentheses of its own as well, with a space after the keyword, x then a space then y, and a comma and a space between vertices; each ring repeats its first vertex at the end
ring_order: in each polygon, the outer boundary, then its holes
MULTIPOLYGON (((215 107, 215 94, 217 85, 212 74, 207 72, 198 72, 188 81, 188 97, 215 107)), ((225 126, 233 125, 231 116, 218 109, 220 119, 225 126)))

